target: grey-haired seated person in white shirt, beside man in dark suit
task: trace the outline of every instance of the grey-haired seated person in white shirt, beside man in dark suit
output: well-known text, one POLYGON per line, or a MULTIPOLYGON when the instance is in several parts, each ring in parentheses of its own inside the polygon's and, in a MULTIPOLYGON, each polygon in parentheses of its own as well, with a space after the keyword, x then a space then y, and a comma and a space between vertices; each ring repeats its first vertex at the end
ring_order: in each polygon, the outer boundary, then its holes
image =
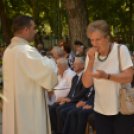
POLYGON ((57 60, 58 66, 58 84, 55 89, 55 95, 57 99, 66 97, 71 88, 72 78, 76 75, 76 72, 72 71, 68 67, 68 61, 66 58, 60 58, 57 60))

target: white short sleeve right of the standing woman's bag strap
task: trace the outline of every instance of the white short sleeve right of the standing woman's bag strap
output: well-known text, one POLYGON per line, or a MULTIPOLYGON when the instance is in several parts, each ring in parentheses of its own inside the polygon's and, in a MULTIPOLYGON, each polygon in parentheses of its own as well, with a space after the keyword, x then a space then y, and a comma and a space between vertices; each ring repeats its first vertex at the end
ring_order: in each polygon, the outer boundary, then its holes
POLYGON ((133 66, 132 58, 128 48, 125 45, 120 46, 120 60, 121 60, 121 69, 126 70, 129 67, 133 66))

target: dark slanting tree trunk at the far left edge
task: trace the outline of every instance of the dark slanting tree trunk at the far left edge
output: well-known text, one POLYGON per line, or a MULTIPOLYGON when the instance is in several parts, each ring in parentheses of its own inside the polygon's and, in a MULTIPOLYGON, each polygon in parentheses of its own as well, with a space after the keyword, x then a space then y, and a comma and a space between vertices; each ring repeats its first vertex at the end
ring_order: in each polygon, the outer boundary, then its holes
POLYGON ((4 36, 5 36, 6 45, 9 45, 11 38, 12 38, 12 32, 11 32, 10 26, 8 24, 8 18, 7 18, 6 11, 5 11, 2 0, 0 0, 0 18, 1 18, 2 30, 3 30, 4 36))

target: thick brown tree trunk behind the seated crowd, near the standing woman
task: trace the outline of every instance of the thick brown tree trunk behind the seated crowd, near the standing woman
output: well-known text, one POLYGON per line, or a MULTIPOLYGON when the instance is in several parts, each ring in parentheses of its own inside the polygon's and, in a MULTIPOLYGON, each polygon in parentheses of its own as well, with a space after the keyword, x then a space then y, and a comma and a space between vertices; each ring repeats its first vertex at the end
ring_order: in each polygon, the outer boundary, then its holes
POLYGON ((86 35, 89 24, 86 0, 63 0, 66 9, 69 36, 72 49, 75 51, 74 42, 79 40, 84 46, 89 46, 89 40, 86 35))

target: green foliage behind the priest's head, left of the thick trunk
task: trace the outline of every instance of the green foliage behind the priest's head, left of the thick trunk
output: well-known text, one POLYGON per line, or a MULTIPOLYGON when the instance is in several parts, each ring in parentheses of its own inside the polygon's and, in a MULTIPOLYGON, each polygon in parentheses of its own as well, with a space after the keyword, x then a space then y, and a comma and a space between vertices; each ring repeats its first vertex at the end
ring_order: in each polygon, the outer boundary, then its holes
MULTIPOLYGON (((60 38, 62 30, 64 29, 62 23, 66 23, 66 27, 67 22, 64 21, 64 17, 61 18, 61 16, 65 14, 65 9, 63 3, 61 3, 62 6, 59 8, 59 1, 60 0, 3 0, 10 29, 12 29, 13 18, 20 14, 26 14, 35 19, 38 31, 38 43, 42 42, 41 36, 43 35, 53 35, 54 37, 57 36, 60 38)), ((1 35, 3 35, 3 33, 1 35)), ((2 38, 2 40, 4 40, 4 38, 2 38)))

